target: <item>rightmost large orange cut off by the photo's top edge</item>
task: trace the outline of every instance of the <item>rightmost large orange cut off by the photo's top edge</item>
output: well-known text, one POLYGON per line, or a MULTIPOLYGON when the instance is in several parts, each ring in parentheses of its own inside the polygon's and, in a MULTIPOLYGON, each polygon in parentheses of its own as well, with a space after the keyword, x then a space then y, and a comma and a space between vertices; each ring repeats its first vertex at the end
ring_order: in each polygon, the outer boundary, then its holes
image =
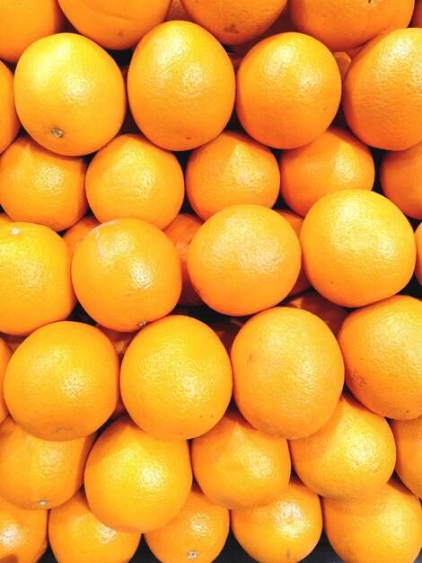
POLYGON ((298 31, 332 51, 355 49, 384 31, 403 0, 295 0, 290 17, 298 31))

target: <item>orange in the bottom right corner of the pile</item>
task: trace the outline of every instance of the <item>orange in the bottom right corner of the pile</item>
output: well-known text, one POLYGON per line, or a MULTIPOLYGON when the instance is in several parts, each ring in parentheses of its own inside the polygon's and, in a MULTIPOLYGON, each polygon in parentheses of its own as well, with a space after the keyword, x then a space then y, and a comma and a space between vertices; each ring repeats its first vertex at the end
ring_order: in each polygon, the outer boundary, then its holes
POLYGON ((391 479, 364 500, 322 499, 324 531, 338 556, 354 563, 413 563, 422 544, 420 503, 391 479))

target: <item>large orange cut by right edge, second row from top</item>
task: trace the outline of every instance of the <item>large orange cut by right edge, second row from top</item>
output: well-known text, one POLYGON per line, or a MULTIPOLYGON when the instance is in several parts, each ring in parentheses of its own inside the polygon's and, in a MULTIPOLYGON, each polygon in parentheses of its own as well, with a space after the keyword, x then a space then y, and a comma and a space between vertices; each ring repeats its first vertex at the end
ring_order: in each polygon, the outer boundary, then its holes
POLYGON ((365 45, 348 67, 343 110, 356 137, 404 150, 422 141, 422 30, 391 31, 365 45))

